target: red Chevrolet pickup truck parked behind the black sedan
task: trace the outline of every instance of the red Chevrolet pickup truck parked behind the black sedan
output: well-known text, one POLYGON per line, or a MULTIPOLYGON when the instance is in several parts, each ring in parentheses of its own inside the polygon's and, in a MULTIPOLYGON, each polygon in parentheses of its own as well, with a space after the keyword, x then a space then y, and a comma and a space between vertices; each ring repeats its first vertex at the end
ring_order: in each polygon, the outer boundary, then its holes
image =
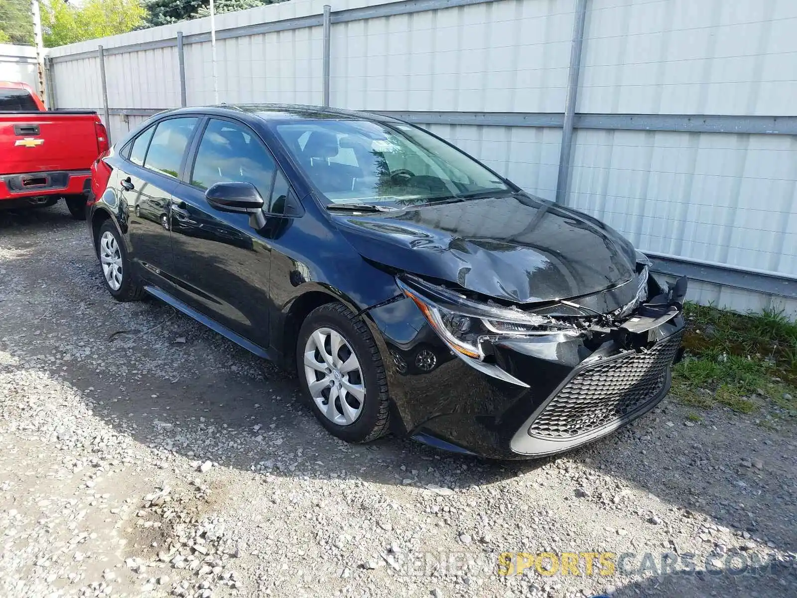
POLYGON ((106 150, 108 132, 96 112, 47 111, 28 85, 0 81, 0 209, 63 198, 83 220, 90 168, 106 150))

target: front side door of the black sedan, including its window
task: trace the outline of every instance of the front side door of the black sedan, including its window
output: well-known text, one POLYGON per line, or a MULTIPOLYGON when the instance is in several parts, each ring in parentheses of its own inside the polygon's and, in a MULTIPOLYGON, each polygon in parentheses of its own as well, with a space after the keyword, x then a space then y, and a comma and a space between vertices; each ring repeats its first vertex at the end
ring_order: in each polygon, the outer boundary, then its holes
POLYGON ((179 298, 266 349, 271 247, 247 214, 214 210, 205 191, 222 181, 245 181, 267 199, 275 168, 251 129, 211 118, 193 165, 186 165, 188 182, 175 189, 170 211, 179 298))

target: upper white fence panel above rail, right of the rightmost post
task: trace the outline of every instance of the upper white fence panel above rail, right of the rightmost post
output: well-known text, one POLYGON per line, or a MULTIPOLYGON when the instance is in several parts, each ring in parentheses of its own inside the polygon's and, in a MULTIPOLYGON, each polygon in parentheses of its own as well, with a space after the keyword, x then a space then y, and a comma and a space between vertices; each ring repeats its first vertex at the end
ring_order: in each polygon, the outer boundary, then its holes
POLYGON ((577 112, 797 114, 794 0, 591 0, 577 112))

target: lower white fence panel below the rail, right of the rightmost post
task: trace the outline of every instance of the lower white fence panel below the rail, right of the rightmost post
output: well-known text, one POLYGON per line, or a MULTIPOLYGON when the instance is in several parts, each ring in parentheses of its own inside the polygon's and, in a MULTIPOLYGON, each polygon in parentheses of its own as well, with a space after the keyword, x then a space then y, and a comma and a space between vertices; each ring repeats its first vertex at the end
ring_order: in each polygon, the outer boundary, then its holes
POLYGON ((797 273, 797 137, 576 134, 568 203, 642 250, 797 273))

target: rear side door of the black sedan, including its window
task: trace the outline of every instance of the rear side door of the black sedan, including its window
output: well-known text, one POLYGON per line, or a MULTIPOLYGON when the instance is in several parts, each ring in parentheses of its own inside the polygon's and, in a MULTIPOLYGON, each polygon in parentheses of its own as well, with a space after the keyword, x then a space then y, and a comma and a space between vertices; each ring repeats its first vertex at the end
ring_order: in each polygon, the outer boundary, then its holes
POLYGON ((173 269, 169 210, 198 116, 167 118, 144 129, 122 151, 116 175, 128 214, 131 258, 141 276, 168 286, 173 269))

